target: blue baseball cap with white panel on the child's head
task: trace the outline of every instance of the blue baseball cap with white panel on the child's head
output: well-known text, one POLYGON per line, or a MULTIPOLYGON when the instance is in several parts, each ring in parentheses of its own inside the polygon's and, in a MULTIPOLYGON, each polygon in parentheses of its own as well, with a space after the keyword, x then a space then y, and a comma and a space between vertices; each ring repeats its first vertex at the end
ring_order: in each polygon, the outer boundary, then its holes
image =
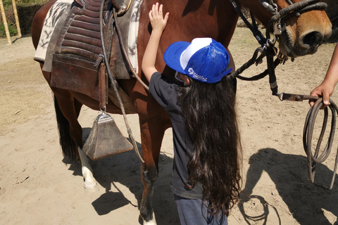
POLYGON ((171 44, 164 53, 167 65, 199 82, 213 84, 231 72, 229 53, 220 42, 209 37, 171 44))

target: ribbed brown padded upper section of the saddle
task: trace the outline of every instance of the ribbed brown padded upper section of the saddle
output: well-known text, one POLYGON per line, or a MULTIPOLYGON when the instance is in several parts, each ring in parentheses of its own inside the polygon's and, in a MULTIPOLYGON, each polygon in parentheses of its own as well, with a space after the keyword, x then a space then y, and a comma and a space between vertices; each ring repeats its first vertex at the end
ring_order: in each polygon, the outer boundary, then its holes
MULTIPOLYGON (((82 1, 83 6, 75 4, 68 18, 65 20, 63 30, 56 44, 54 58, 59 55, 73 57, 75 60, 88 62, 101 61, 102 46, 100 34, 100 6, 101 0, 82 1)), ((106 39, 107 51, 110 51, 111 37, 113 35, 112 4, 106 0, 104 3, 103 34, 106 39)), ((98 62, 95 67, 97 68, 98 62)))

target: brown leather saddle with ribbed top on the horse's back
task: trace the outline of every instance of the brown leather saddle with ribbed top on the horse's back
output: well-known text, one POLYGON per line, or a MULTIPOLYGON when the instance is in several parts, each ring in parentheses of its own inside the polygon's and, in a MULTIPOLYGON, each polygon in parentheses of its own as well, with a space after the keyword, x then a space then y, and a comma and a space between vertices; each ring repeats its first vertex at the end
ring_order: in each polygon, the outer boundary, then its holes
MULTIPOLYGON (((126 13, 131 0, 105 0, 103 10, 104 46, 111 58, 114 20, 113 7, 118 15, 126 13)), ((108 97, 120 107, 113 91, 108 91, 108 75, 99 72, 104 58, 100 32, 101 0, 75 0, 56 41, 51 66, 51 86, 86 94, 100 101, 100 106, 108 103, 108 97), (101 74, 101 75, 99 75, 101 74)), ((125 73, 123 79, 130 79, 125 73)), ((121 78, 121 77, 120 77, 121 78)), ((127 113, 135 113, 136 107, 123 89, 119 88, 127 113)))

